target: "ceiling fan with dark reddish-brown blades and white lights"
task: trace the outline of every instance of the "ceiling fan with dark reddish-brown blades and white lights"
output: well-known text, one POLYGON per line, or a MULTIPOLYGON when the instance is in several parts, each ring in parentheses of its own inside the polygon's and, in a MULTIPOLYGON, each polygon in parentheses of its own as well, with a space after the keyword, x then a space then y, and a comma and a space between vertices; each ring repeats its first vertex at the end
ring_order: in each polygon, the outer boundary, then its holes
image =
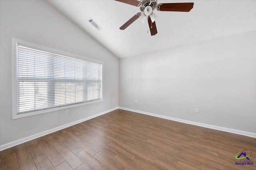
POLYGON ((140 11, 135 14, 130 20, 128 20, 124 25, 120 27, 121 30, 126 29, 129 25, 131 25, 135 20, 139 18, 139 21, 144 23, 144 21, 148 20, 148 25, 150 29, 151 35, 157 34, 156 29, 156 14, 153 11, 156 9, 158 11, 176 11, 176 12, 189 12, 194 3, 165 3, 165 4, 158 4, 157 0, 142 0, 142 2, 138 0, 116 0, 119 2, 123 2, 126 4, 130 4, 133 6, 140 7, 140 11))

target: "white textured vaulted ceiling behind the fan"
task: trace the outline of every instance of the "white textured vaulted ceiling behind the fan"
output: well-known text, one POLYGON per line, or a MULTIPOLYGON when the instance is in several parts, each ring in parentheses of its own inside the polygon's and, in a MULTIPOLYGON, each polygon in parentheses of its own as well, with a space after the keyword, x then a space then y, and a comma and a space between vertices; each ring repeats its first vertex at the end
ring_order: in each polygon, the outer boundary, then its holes
POLYGON ((256 0, 158 0, 158 4, 194 2, 194 8, 190 12, 155 10, 158 34, 154 36, 147 33, 148 23, 138 20, 119 29, 140 12, 136 6, 114 0, 47 1, 119 58, 256 30, 256 0), (89 18, 102 29, 93 27, 89 18))

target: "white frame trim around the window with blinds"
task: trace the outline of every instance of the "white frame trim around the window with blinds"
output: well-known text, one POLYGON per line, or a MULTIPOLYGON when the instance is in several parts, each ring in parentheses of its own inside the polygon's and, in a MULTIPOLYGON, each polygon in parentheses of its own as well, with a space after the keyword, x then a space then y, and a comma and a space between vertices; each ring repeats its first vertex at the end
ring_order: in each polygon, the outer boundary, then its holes
POLYGON ((103 93, 103 80, 104 80, 104 78, 103 78, 103 69, 104 69, 103 61, 99 61, 99 60, 96 60, 96 59, 91 59, 91 58, 84 57, 84 56, 81 56, 81 55, 76 55, 76 54, 73 54, 73 53, 68 53, 68 52, 65 52, 65 51, 61 51, 61 50, 53 49, 53 48, 50 48, 50 47, 45 47, 45 46, 42 46, 42 45, 38 45, 38 44, 30 43, 30 42, 27 42, 27 41, 22 41, 22 40, 19 40, 19 39, 12 38, 12 119, 18 119, 18 118, 21 118, 21 117, 38 115, 38 114, 42 114, 42 113, 49 113, 49 112, 52 112, 52 111, 58 111, 58 110, 72 108, 72 107, 78 107, 78 106, 84 106, 84 105, 87 105, 87 104, 102 102, 103 101, 103 94, 104 94, 103 93), (17 105, 18 105, 18 98, 17 98, 17 96, 18 96, 18 46, 17 45, 18 45, 18 43, 34 47, 35 49, 38 48, 38 49, 50 51, 50 52, 56 53, 58 55, 64 55, 64 56, 67 56, 67 57, 79 58, 79 59, 83 59, 83 60, 88 60, 88 61, 101 63, 102 64, 102 70, 101 70, 101 75, 102 75, 101 99, 82 102, 82 103, 79 103, 79 104, 67 104, 67 105, 64 105, 64 106, 46 108, 46 109, 38 110, 38 111, 35 110, 35 111, 30 112, 30 113, 18 114, 18 110, 17 110, 17 105))

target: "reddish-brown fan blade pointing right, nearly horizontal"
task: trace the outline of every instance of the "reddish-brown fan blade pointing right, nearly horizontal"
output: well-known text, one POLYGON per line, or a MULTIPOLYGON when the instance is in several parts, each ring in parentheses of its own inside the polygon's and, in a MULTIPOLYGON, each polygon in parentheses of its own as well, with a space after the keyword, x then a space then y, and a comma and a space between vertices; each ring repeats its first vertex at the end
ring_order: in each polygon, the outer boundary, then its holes
POLYGON ((168 4, 158 4, 158 11, 177 11, 177 12, 190 12, 193 8, 194 3, 168 3, 168 4))

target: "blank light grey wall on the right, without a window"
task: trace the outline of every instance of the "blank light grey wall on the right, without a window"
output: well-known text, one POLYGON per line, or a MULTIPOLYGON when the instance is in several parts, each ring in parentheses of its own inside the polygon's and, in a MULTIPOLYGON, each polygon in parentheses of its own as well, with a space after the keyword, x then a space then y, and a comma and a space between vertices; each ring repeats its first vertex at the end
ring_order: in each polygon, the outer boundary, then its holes
POLYGON ((256 31, 120 59, 119 106, 256 133, 256 31))

